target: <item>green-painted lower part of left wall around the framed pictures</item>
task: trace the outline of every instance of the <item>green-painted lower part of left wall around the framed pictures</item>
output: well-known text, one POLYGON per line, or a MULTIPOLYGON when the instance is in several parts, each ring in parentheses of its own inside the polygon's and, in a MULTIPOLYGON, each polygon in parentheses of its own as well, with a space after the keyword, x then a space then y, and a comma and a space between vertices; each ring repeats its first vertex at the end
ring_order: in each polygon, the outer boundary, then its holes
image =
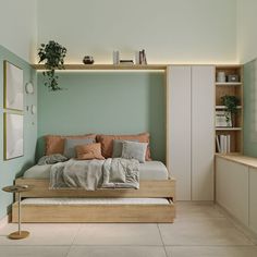
MULTIPOLYGON (((8 49, 0 46, 0 219, 7 215, 13 196, 10 193, 1 191, 3 186, 13 184, 15 176, 21 174, 27 167, 34 163, 35 159, 35 145, 37 138, 37 115, 32 115, 24 108, 24 156, 12 159, 3 160, 3 61, 8 60, 13 64, 23 69, 24 84, 33 81, 36 85, 36 73, 27 62, 10 52, 8 49)), ((34 95, 27 96, 24 93, 24 107, 36 105, 37 97, 34 95)))

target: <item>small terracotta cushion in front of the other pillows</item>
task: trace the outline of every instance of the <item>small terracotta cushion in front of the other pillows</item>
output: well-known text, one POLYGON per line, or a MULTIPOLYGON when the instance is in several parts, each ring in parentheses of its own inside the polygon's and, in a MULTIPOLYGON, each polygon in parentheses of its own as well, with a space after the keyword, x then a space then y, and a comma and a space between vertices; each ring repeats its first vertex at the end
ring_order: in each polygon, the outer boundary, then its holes
POLYGON ((105 160, 105 157, 101 155, 101 144, 94 143, 88 145, 76 146, 76 157, 78 160, 105 160))

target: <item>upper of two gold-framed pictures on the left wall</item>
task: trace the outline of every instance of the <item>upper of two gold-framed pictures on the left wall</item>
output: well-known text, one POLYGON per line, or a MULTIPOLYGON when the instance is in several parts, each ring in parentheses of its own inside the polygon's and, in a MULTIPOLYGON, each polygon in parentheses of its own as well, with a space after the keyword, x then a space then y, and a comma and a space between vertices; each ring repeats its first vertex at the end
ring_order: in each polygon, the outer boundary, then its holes
POLYGON ((23 110, 23 70, 4 61, 3 64, 4 99, 3 108, 23 110))

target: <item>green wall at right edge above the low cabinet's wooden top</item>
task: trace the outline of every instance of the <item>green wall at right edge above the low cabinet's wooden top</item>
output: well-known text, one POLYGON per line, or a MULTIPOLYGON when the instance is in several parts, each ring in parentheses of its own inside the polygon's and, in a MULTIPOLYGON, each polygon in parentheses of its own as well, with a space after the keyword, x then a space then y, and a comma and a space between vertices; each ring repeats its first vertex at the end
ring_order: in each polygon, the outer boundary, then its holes
POLYGON ((244 155, 252 157, 257 157, 256 76, 257 60, 254 60, 244 65, 244 155))

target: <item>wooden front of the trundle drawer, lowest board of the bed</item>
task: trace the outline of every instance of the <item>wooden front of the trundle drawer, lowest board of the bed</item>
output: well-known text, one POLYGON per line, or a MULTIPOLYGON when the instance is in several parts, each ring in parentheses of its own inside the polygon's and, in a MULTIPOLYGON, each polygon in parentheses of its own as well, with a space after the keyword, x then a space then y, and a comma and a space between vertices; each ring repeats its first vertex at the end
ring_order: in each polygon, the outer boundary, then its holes
MULTIPOLYGON (((17 203, 12 208, 17 222, 17 203)), ((22 222, 173 222, 174 205, 22 205, 22 222)))

